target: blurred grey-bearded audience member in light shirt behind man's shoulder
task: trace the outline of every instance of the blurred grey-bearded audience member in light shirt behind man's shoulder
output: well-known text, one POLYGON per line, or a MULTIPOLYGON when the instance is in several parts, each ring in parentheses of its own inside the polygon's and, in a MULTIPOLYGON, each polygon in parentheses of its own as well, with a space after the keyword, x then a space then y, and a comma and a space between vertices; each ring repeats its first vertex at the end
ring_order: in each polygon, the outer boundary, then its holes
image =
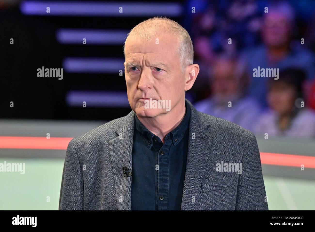
POLYGON ((251 130, 260 107, 254 99, 244 96, 248 74, 243 62, 219 57, 211 72, 209 84, 212 96, 197 102, 196 109, 251 130), (229 102, 232 107, 229 107, 229 102))

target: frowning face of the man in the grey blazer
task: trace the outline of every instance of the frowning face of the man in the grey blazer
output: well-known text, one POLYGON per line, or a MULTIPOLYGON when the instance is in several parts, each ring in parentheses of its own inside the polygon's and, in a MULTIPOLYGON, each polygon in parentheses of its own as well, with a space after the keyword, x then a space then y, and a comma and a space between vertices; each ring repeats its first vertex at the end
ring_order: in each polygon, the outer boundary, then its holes
POLYGON ((125 43, 124 66, 129 104, 138 116, 166 114, 185 98, 185 74, 174 35, 163 34, 151 41, 130 35, 125 43), (150 98, 170 103, 169 110, 147 108, 150 98))

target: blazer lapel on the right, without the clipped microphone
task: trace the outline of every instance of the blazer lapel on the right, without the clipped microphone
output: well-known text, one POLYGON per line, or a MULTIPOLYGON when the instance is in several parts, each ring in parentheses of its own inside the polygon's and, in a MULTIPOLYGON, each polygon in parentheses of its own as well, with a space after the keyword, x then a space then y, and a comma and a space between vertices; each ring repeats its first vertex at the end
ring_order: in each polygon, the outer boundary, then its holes
POLYGON ((209 124, 200 125, 205 120, 200 118, 201 113, 189 101, 187 102, 191 108, 191 118, 181 210, 194 210, 196 200, 200 194, 199 190, 203 176, 205 171, 209 169, 207 163, 211 152, 214 131, 211 130, 209 124))

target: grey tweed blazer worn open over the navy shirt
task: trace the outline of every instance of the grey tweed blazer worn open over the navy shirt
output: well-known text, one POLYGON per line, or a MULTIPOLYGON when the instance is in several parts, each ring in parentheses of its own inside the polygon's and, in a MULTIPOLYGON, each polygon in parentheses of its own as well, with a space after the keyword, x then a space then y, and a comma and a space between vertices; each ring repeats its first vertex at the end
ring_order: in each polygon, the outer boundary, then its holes
MULTIPOLYGON (((268 210, 255 135, 186 102, 191 117, 181 210, 268 210), (219 168, 222 162, 242 164, 242 173, 233 165, 219 168)), ((70 141, 59 210, 130 210, 132 176, 123 176, 122 167, 132 170, 134 122, 131 111, 70 141)))

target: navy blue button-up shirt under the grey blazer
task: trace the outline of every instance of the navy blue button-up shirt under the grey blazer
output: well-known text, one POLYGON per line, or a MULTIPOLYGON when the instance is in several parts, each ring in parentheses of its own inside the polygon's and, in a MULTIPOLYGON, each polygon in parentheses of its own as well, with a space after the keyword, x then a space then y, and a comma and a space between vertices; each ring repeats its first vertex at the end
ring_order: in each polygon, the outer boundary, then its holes
MULTIPOLYGON (((186 104, 186 103, 185 103, 186 104)), ((190 108, 165 143, 135 115, 131 210, 180 210, 183 195, 190 108)))

